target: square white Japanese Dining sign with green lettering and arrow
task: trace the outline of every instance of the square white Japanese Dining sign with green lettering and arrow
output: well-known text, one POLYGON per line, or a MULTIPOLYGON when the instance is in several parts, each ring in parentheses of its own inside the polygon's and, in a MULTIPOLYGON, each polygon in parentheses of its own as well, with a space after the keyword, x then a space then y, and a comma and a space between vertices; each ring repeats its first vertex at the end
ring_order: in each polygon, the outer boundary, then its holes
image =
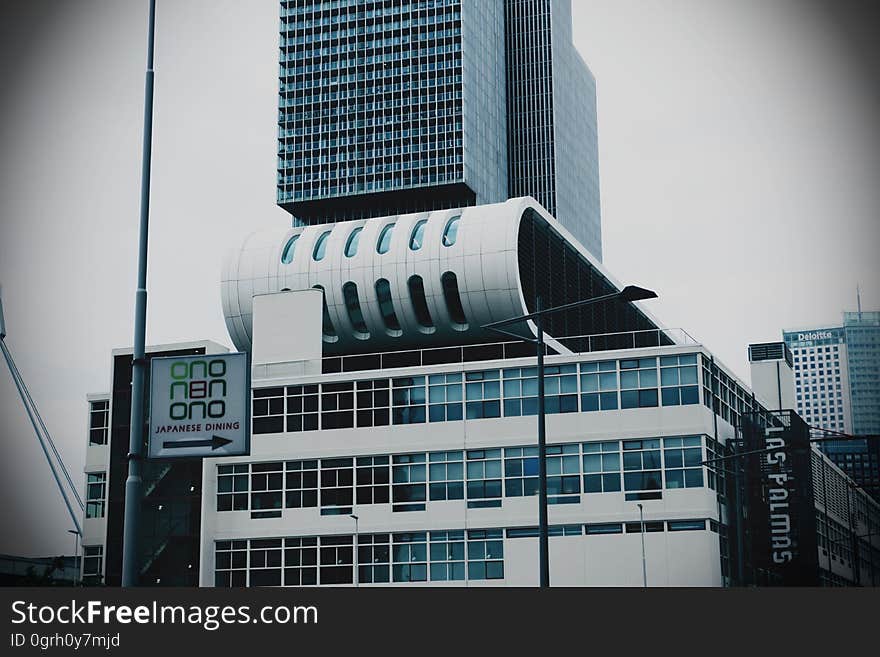
POLYGON ((250 454, 245 353, 153 358, 149 458, 250 454))

